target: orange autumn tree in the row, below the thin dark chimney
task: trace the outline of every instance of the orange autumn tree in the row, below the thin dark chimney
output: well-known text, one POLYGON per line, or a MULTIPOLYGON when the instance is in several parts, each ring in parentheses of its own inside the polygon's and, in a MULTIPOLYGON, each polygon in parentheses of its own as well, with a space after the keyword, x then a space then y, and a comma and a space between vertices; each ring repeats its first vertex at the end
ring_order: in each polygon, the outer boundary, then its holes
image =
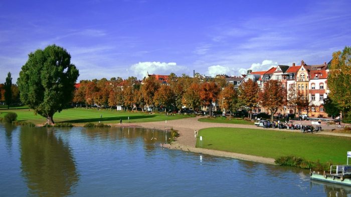
POLYGON ((189 108, 193 108, 194 111, 199 109, 201 106, 200 89, 201 87, 199 83, 193 82, 184 92, 182 104, 189 108))

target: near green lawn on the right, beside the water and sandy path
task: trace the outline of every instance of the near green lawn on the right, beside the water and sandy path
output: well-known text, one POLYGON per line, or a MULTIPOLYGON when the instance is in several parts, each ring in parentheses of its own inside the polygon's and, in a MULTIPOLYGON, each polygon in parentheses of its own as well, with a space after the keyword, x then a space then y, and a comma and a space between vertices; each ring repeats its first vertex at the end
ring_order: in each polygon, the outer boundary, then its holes
MULTIPOLYGON (((277 158, 294 155, 321 162, 345 164, 351 137, 251 128, 205 128, 203 148, 277 158)), ((196 146, 199 147, 200 137, 196 146)))

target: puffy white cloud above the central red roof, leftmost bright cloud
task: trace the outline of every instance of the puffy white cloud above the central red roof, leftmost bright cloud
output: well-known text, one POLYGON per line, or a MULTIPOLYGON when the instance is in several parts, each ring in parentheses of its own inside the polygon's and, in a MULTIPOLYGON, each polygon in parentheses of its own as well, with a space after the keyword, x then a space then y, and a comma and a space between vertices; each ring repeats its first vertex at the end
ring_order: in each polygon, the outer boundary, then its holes
POLYGON ((169 74, 170 72, 176 73, 184 69, 184 66, 177 65, 175 62, 143 61, 131 65, 128 71, 141 79, 147 75, 147 72, 149 74, 169 74))

